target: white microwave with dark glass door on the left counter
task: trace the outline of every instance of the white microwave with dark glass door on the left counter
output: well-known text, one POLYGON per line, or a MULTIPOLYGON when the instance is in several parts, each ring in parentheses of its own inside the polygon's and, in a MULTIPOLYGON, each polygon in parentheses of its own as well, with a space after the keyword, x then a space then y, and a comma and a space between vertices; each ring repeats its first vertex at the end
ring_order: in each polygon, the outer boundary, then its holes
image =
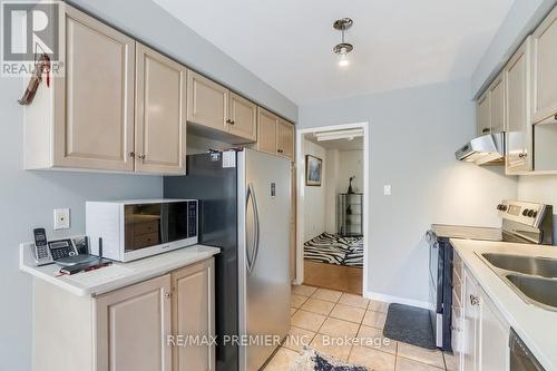
POLYGON ((197 243, 197 199, 134 199, 86 203, 91 254, 119 262, 197 243))

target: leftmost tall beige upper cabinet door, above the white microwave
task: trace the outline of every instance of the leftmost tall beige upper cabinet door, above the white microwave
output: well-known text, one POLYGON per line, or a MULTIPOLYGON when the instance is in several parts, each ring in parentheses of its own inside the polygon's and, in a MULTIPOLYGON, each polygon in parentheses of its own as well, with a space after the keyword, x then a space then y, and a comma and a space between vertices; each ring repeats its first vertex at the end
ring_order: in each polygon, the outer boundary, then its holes
POLYGON ((135 41, 68 6, 59 20, 53 165, 133 170, 135 41))

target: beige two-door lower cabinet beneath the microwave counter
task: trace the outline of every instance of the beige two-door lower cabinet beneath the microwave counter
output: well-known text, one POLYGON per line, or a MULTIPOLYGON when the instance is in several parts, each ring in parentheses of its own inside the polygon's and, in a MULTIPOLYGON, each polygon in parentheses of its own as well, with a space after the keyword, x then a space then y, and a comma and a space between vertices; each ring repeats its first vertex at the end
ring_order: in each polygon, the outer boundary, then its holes
POLYGON ((33 370, 215 370, 213 264, 208 258, 99 296, 35 279, 33 370))

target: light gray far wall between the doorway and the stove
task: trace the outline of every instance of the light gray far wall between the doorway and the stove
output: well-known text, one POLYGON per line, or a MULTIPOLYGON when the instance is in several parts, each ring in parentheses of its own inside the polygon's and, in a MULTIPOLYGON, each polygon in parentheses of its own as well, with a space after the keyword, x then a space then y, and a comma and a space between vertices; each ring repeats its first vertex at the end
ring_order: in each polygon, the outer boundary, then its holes
POLYGON ((300 107, 301 128, 370 123, 369 291, 428 301, 429 225, 498 226, 495 206, 516 197, 517 179, 502 168, 453 157, 475 134, 469 94, 456 81, 300 107))

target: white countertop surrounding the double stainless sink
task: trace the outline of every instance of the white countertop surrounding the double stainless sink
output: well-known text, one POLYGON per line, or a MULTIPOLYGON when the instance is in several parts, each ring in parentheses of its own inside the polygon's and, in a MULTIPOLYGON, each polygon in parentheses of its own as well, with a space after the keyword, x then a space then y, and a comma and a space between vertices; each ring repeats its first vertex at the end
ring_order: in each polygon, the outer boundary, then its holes
POLYGON ((546 370, 557 370, 557 312, 525 302, 478 255, 485 252, 557 258, 557 246, 450 240, 505 320, 546 370))

